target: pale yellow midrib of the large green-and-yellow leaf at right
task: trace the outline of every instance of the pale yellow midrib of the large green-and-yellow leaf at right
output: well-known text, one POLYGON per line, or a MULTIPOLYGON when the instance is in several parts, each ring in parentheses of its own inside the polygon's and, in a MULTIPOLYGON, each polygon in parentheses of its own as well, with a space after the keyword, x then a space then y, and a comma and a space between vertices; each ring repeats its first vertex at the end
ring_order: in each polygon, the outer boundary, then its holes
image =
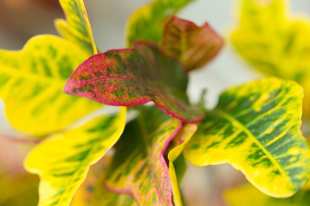
POLYGON ((275 158, 273 158, 273 156, 268 152, 268 150, 266 150, 266 148, 264 148, 264 145, 260 141, 258 141, 258 139, 252 134, 252 132, 246 126, 244 126, 242 123, 240 123, 233 116, 231 116, 230 114, 228 114, 227 112, 225 112, 219 108, 216 108, 213 111, 216 112, 222 118, 228 120, 229 122, 237 124, 237 126, 241 130, 243 130, 248 136, 252 137, 254 139, 254 141, 258 144, 258 146, 262 149, 262 151, 269 157, 269 159, 271 159, 272 162, 274 162, 274 164, 277 165, 277 167, 279 168, 282 175, 284 177, 286 177, 286 179, 288 179, 289 182, 292 182, 291 179, 288 178, 288 175, 286 175, 286 171, 282 168, 282 166, 279 164, 279 162, 275 158))

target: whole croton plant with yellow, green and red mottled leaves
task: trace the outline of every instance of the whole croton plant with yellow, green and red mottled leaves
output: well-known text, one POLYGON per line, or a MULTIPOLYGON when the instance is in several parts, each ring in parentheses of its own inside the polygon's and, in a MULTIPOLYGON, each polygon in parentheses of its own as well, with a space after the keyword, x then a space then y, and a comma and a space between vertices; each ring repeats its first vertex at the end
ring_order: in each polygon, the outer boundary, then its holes
POLYGON ((254 196, 236 206, 271 206, 268 196, 284 206, 287 199, 276 198, 307 183, 304 90, 294 81, 309 85, 309 61, 298 63, 309 57, 309 42, 302 42, 310 26, 288 21, 282 0, 241 0, 233 44, 277 77, 229 88, 206 108, 189 101, 188 75, 217 55, 223 39, 207 23, 175 16, 191 1, 140 7, 127 22, 126 48, 101 53, 83 0, 59 0, 66 20, 55 26, 62 37, 40 35, 20 51, 0 50, 6 118, 27 134, 21 141, 37 141, 24 167, 40 176, 38 206, 182 206, 185 161, 240 170, 262 193, 253 186, 228 192, 232 205, 254 196))

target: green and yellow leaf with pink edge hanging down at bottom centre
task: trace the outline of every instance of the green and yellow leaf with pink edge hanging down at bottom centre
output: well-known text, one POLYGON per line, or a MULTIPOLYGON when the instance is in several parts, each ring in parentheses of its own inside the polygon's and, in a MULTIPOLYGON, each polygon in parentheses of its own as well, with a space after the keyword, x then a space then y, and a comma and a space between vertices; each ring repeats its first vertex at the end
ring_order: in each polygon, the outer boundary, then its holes
POLYGON ((163 153, 183 123, 155 107, 143 108, 126 125, 105 179, 107 188, 130 194, 140 206, 173 206, 163 153))

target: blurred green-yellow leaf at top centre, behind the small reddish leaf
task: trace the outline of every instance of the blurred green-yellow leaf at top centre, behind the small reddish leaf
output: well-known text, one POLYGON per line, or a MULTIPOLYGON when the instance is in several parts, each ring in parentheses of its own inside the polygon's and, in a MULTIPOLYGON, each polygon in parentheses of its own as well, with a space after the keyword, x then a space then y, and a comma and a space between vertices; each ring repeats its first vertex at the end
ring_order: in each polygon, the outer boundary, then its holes
POLYGON ((161 42, 165 22, 193 0, 154 0, 137 9, 127 22, 127 45, 135 41, 161 42))

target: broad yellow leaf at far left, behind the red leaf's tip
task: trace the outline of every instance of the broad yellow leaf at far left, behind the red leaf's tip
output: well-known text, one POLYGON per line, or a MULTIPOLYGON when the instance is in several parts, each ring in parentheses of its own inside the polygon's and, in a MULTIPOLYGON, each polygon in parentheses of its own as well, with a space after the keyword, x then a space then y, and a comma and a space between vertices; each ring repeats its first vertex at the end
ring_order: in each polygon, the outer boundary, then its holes
POLYGON ((32 38, 20 51, 0 50, 0 98, 10 124, 44 136, 101 107, 62 92, 88 56, 72 42, 51 35, 32 38))

